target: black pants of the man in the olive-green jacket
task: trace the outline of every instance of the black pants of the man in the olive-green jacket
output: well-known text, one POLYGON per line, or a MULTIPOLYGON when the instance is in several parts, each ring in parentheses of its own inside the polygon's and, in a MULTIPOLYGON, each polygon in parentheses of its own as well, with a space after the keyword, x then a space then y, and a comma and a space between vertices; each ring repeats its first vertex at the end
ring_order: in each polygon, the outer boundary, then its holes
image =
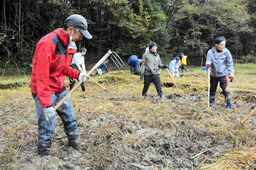
POLYGON ((147 96, 147 91, 148 91, 149 85, 152 82, 154 83, 154 85, 156 87, 157 95, 160 97, 164 96, 159 74, 144 76, 144 88, 142 90, 142 96, 147 96))

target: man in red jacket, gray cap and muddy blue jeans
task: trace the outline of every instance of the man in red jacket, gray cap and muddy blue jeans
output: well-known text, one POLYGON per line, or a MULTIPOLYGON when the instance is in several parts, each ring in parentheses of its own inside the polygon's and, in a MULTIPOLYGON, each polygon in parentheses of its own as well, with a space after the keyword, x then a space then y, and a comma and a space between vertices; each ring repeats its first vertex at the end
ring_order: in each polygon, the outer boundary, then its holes
MULTIPOLYGON (((31 74, 31 93, 36 103, 38 117, 38 145, 40 155, 49 155, 52 146, 52 135, 55 127, 55 111, 53 107, 64 96, 65 76, 87 81, 85 73, 70 67, 74 49, 69 48, 71 42, 83 37, 91 39, 87 31, 87 22, 81 15, 71 15, 66 19, 63 28, 58 28, 45 35, 36 45, 31 74)), ((70 98, 56 110, 60 116, 68 137, 68 146, 81 150, 80 138, 70 98)))

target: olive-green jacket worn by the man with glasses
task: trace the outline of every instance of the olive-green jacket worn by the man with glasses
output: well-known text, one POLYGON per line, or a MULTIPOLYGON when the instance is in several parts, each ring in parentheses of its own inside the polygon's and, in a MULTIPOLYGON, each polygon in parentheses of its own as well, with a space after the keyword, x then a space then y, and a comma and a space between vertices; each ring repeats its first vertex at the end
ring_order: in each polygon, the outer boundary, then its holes
POLYGON ((158 53, 145 52, 142 56, 141 74, 156 75, 159 68, 164 68, 158 53))

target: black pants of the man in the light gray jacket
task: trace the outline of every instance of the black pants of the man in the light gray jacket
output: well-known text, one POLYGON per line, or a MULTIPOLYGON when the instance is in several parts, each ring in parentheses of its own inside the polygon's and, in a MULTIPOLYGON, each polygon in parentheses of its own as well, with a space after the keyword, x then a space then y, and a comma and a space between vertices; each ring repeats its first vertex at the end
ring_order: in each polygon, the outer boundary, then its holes
POLYGON ((228 75, 220 76, 220 77, 215 77, 215 76, 210 76, 210 100, 215 99, 215 94, 218 86, 218 82, 220 81, 220 88, 222 89, 222 94, 225 96, 225 99, 230 99, 230 92, 228 89, 228 75))

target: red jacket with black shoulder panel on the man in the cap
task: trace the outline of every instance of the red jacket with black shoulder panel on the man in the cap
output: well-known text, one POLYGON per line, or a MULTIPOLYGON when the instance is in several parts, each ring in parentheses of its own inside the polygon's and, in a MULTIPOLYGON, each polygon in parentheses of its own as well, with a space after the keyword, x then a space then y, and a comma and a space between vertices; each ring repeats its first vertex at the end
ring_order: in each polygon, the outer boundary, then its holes
POLYGON ((69 35, 58 28, 36 44, 31 73, 31 92, 37 94, 43 108, 52 105, 51 94, 64 87, 65 75, 78 78, 78 70, 70 67, 74 49, 67 49, 69 35))

